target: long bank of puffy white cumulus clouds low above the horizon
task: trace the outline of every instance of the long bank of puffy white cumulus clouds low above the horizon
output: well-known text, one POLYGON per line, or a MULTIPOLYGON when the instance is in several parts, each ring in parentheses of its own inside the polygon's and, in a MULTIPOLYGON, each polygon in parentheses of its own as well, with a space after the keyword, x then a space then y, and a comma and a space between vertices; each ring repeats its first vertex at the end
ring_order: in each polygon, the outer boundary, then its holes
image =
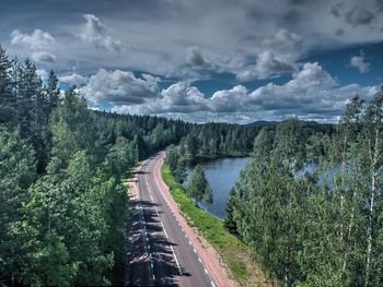
POLYGON ((339 86, 317 62, 306 62, 285 84, 268 83, 254 91, 243 85, 221 89, 206 97, 197 87, 178 82, 159 93, 155 100, 116 105, 113 111, 152 113, 198 122, 252 122, 298 116, 305 120, 337 121, 349 98, 370 99, 375 86, 339 86))

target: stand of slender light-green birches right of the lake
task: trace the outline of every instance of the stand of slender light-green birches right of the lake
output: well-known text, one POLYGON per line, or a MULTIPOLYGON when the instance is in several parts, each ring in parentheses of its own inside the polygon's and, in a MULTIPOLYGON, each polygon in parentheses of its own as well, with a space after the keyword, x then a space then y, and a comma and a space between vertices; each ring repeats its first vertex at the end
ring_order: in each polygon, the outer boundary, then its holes
POLYGON ((382 175, 383 89, 355 97, 333 135, 264 128, 227 226, 283 286, 382 286, 382 175))

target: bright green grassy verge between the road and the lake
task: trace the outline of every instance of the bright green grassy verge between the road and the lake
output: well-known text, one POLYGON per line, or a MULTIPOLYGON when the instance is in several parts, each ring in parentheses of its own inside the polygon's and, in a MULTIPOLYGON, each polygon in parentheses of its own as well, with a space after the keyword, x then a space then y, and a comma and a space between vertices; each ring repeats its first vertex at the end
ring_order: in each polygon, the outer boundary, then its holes
POLYGON ((220 254, 232 278, 240 286, 271 286, 252 260, 246 246, 224 228, 222 220, 194 204, 166 164, 162 166, 161 174, 183 216, 220 254))

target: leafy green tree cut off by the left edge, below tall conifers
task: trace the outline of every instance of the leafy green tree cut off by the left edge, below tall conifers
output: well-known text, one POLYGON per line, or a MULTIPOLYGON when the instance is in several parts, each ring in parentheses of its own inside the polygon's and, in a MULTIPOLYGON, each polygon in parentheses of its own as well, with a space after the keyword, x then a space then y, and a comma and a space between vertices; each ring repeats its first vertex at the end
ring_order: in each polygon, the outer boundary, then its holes
POLYGON ((0 284, 18 278, 24 254, 16 226, 22 206, 30 196, 28 187, 36 178, 35 156, 19 132, 0 127, 0 284))

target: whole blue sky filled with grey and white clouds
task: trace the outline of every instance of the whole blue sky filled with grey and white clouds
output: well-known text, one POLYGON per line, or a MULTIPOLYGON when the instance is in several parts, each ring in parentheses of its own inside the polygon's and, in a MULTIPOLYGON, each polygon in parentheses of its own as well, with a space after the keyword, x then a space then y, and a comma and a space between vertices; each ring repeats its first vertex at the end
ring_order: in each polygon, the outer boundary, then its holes
POLYGON ((383 83, 383 0, 2 0, 0 44, 91 108, 334 122, 383 83))

